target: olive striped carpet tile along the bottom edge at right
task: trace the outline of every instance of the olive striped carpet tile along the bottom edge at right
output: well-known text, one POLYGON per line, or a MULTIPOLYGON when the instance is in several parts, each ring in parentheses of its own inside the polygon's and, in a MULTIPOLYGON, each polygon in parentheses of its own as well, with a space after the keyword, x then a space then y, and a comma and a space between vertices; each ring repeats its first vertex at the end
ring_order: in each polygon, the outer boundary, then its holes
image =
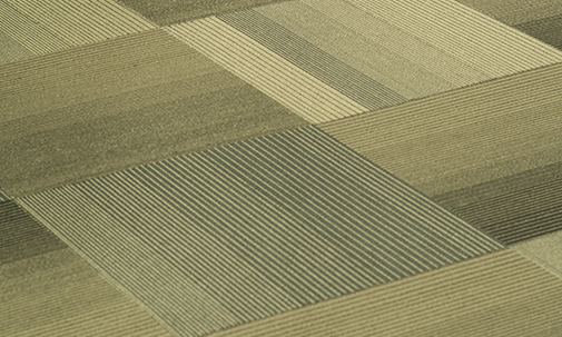
POLYGON ((562 279, 505 249, 210 336, 555 337, 561 310, 562 279))

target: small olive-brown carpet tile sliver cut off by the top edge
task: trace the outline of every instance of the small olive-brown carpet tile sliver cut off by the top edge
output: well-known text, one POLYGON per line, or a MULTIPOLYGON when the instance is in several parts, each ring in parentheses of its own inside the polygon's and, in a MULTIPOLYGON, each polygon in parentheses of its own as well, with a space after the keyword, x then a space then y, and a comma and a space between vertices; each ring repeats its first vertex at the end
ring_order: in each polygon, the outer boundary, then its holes
POLYGON ((214 14, 283 0, 117 0, 159 26, 169 26, 214 14))

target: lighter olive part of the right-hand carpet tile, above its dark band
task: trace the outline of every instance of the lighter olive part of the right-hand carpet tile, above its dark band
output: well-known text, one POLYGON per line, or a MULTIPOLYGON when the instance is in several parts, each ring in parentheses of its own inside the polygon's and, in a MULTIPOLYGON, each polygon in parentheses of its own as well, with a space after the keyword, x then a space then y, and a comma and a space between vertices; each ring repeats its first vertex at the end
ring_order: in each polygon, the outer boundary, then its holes
POLYGON ((321 128, 428 196, 562 161, 562 63, 321 128))

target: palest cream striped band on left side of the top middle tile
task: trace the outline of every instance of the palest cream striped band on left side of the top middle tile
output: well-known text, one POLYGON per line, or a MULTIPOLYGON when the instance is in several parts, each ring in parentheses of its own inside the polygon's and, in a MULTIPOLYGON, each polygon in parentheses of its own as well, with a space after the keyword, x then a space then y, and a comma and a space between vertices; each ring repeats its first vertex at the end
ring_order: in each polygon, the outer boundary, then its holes
POLYGON ((167 30, 310 122, 367 110, 215 17, 167 30))

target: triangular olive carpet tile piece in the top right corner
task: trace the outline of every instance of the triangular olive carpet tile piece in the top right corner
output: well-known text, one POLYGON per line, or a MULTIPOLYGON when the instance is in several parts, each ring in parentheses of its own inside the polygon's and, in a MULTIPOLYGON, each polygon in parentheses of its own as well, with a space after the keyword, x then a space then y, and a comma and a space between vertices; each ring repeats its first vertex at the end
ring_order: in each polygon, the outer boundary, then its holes
POLYGON ((529 36, 562 49, 561 0, 457 0, 529 36))

